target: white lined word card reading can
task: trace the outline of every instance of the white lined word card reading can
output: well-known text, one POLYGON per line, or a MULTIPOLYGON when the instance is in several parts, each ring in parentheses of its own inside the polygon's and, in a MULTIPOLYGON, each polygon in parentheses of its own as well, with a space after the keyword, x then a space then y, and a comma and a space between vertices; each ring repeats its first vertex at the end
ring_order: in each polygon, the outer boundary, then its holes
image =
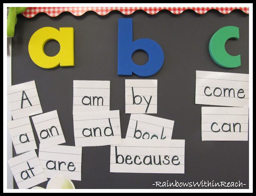
POLYGON ((202 107, 202 141, 248 141, 248 108, 202 107))

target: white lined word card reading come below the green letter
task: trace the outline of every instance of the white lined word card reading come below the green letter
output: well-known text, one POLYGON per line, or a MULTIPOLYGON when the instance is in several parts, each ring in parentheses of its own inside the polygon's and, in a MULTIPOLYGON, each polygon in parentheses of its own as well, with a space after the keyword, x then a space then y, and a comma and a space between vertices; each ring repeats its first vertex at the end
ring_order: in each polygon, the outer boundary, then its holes
POLYGON ((249 74, 196 71, 196 104, 249 106, 249 74))

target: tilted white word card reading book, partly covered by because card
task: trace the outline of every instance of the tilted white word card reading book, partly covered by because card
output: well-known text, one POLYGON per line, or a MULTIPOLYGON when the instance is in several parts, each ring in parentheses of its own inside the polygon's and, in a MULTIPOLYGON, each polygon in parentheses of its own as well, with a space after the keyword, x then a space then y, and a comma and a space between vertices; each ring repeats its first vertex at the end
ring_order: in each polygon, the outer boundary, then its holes
POLYGON ((173 120, 150 116, 147 114, 131 114, 126 138, 132 139, 172 139, 173 120))

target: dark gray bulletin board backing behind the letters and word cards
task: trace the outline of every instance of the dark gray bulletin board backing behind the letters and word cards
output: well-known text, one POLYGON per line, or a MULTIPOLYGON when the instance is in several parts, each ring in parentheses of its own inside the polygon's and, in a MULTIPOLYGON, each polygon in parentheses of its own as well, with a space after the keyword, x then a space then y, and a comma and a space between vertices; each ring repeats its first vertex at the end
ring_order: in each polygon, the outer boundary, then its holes
MULTIPOLYGON (((124 81, 143 78, 117 74, 118 18, 133 19, 134 40, 153 39, 164 51, 161 70, 146 78, 158 80, 158 113, 152 115, 175 120, 172 139, 185 139, 186 143, 185 174, 110 173, 110 146, 83 147, 82 181, 73 181, 76 188, 155 188, 152 185, 154 182, 167 180, 240 180, 246 184, 243 188, 248 188, 248 141, 202 142, 203 105, 195 104, 196 70, 249 73, 249 15, 240 10, 226 15, 216 10, 202 15, 192 10, 179 15, 165 10, 155 15, 136 11, 130 16, 118 11, 106 16, 99 16, 95 12, 86 12, 82 16, 64 12, 55 18, 44 13, 33 18, 19 15, 12 39, 12 84, 35 80, 43 112, 58 111, 66 138, 65 145, 74 146, 73 80, 110 80, 110 110, 120 110, 122 138, 125 138, 130 114, 125 114, 124 81), (36 30, 45 26, 74 28, 74 67, 59 66, 47 70, 32 62, 28 54, 28 42, 36 30), (224 26, 239 27, 240 39, 228 40, 226 43, 229 54, 241 54, 242 65, 238 68, 222 68, 210 57, 210 38, 224 26)), ((55 55, 59 45, 50 41, 44 49, 46 54, 55 55)), ((133 56, 134 62, 138 64, 143 64, 147 58, 143 52, 133 56)), ((32 128, 36 135, 33 124, 32 128)), ((36 142, 39 147, 38 138, 36 142)), ((39 186, 46 187, 46 183, 39 186)), ((17 188, 15 182, 14 188, 17 188)))

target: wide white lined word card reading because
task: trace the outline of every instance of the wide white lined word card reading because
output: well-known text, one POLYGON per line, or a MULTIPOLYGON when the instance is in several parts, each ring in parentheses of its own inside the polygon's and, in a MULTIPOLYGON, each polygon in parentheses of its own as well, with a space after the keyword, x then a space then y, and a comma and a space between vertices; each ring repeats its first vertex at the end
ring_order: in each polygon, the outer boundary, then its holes
POLYGON ((185 140, 127 140, 110 146, 110 172, 184 174, 185 140))

